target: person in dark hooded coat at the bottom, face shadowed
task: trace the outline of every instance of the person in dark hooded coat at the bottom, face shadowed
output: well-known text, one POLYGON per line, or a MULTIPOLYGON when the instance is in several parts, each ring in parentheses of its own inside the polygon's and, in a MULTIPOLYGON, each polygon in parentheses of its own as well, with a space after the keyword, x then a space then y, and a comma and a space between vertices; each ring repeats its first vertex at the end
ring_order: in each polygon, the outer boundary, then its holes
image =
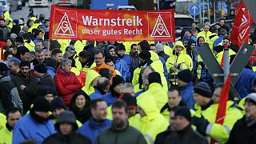
POLYGON ((57 121, 55 123, 55 128, 57 130, 56 134, 50 135, 42 143, 85 143, 90 144, 90 140, 78 134, 78 125, 74 114, 66 110, 62 114, 58 115, 57 121))

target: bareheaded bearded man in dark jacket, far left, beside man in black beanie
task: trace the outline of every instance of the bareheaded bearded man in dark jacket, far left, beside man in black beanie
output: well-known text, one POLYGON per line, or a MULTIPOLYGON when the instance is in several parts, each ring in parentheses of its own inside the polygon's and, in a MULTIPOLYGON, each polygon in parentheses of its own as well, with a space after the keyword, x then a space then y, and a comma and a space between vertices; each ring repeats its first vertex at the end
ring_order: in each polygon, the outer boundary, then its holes
POLYGON ((21 85, 24 86, 35 86, 38 83, 37 78, 34 78, 33 75, 30 74, 30 62, 22 61, 20 64, 21 70, 18 74, 14 75, 11 78, 11 81, 14 82, 15 86, 18 88, 18 94, 22 99, 24 114, 28 110, 30 110, 30 105, 32 103, 31 95, 25 94, 24 91, 21 90, 21 85))

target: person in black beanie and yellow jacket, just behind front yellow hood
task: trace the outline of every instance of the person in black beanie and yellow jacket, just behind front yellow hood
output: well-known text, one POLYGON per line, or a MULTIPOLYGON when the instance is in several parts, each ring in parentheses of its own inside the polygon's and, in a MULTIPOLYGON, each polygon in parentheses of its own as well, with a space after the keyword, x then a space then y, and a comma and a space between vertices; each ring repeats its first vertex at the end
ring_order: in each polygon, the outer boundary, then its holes
POLYGON ((162 87, 161 77, 158 72, 152 72, 146 77, 149 81, 148 90, 138 96, 138 101, 142 97, 152 97, 154 98, 154 102, 156 102, 158 110, 160 111, 168 101, 168 91, 162 87))

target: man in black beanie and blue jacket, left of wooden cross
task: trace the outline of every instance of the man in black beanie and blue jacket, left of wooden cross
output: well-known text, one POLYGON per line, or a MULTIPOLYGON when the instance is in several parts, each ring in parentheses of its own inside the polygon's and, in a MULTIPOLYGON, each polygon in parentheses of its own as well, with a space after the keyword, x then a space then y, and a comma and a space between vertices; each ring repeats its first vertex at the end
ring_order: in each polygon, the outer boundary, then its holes
POLYGON ((190 109, 194 109, 194 98, 193 91, 194 86, 192 82, 192 74, 191 71, 186 69, 178 72, 178 91, 182 96, 182 102, 186 103, 190 109))

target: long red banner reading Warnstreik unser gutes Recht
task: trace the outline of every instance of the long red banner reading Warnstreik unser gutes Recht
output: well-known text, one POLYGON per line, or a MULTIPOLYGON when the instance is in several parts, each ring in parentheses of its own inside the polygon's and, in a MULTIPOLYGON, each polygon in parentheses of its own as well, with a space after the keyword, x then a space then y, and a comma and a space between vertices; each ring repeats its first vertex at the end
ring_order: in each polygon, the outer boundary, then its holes
POLYGON ((51 6, 50 38, 175 41, 174 10, 82 10, 51 6))

